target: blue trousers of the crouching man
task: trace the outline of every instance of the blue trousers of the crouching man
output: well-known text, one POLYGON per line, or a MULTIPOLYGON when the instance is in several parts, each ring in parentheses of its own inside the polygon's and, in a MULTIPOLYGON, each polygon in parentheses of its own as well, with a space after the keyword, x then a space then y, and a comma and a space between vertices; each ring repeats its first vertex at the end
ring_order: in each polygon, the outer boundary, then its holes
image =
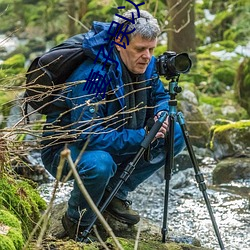
MULTIPOLYGON (((165 164, 166 149, 164 148, 164 139, 158 139, 153 143, 151 149, 151 160, 145 161, 142 157, 135 170, 132 172, 128 180, 121 186, 116 197, 125 200, 128 193, 135 190, 136 187, 151 176, 156 170, 165 164)), ((175 123, 174 136, 174 154, 177 155, 185 147, 184 138, 178 123, 175 123)), ((74 143, 69 144, 71 157, 75 161, 80 154, 81 148, 74 143)), ((45 168, 55 177, 57 167, 60 160, 60 152, 62 149, 53 150, 53 147, 42 151, 42 160, 45 168)), ((120 175, 127 164, 133 160, 135 155, 115 156, 101 150, 85 151, 77 164, 78 174, 92 197, 96 205, 102 199, 104 191, 111 191, 120 180, 120 175)), ((65 163, 63 175, 67 175, 70 167, 65 163)), ((88 226, 94 217, 94 213, 90 209, 88 203, 84 199, 76 182, 68 201, 68 216, 79 221, 80 212, 86 209, 81 218, 81 225, 88 226)))

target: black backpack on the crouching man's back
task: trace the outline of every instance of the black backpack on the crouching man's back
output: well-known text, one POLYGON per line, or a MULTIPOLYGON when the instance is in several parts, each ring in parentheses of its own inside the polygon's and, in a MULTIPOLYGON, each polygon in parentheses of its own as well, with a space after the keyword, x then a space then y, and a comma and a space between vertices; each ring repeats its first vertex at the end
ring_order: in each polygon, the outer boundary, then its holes
POLYGON ((66 79, 86 58, 83 40, 84 34, 73 36, 31 63, 26 73, 24 93, 26 114, 28 105, 41 114, 51 110, 51 104, 66 79))

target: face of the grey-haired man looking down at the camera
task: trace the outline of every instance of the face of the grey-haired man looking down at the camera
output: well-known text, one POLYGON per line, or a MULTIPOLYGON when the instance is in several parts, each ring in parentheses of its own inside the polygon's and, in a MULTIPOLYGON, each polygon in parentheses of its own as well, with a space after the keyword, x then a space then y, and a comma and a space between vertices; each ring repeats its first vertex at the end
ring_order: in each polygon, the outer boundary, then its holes
MULTIPOLYGON (((116 39, 116 42, 119 42, 119 38, 116 39)), ((136 35, 129 41, 126 49, 119 45, 116 45, 116 48, 130 72, 143 74, 151 60, 156 44, 157 39, 147 40, 143 39, 140 35, 136 35)))

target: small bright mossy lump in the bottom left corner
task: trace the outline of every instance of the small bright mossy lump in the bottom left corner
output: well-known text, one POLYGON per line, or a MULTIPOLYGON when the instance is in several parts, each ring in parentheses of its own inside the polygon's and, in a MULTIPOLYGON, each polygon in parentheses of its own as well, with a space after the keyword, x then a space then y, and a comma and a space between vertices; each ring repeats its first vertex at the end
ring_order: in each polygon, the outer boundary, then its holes
POLYGON ((20 221, 7 210, 0 209, 0 249, 19 250, 23 244, 20 221))

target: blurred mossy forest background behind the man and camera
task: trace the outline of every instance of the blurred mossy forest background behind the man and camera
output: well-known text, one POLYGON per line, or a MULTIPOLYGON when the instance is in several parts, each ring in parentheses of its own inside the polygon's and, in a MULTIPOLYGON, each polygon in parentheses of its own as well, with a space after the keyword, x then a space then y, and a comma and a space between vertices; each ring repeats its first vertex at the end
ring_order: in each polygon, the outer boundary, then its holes
MULTIPOLYGON (((35 56, 72 35, 87 32, 94 20, 111 22, 118 6, 133 8, 120 0, 0 0, 0 34, 4 35, 0 40, 0 104, 19 93, 17 86, 24 85, 27 66, 35 56), (19 43, 8 51, 5 45, 14 39, 19 43)), ((195 88, 200 105, 212 105, 208 118, 249 118, 249 1, 150 0, 140 9, 152 13, 161 26, 155 56, 165 51, 191 56, 193 67, 180 81, 195 88), (228 105, 235 112, 225 117, 221 107, 228 105)), ((1 107, 4 127, 11 105, 1 107)))

